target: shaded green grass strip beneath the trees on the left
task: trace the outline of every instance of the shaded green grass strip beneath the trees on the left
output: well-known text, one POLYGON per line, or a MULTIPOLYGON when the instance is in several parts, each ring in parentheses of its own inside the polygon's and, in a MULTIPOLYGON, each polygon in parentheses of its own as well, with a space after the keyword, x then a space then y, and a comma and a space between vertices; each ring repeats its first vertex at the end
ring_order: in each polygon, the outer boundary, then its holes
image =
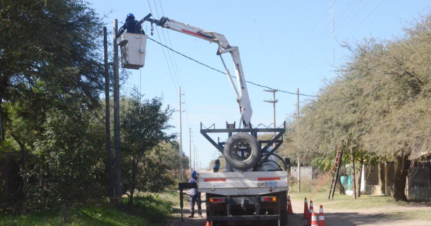
MULTIPOLYGON (((160 225, 172 213, 172 194, 138 194, 134 210, 123 211, 111 205, 108 198, 88 201, 71 208, 66 225, 160 225)), ((127 203, 128 198, 123 198, 127 203)), ((0 225, 60 225, 60 210, 33 212, 21 215, 0 214, 0 225)))

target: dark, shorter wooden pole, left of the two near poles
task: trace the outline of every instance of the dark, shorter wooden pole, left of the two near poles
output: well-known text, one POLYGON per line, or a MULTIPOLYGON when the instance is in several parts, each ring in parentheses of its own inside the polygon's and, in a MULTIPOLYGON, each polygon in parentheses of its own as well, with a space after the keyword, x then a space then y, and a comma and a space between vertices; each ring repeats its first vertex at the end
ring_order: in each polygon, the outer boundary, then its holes
POLYGON ((108 68, 108 38, 106 26, 103 27, 103 48, 105 56, 105 136, 106 136, 106 155, 108 165, 108 194, 114 196, 114 181, 112 174, 112 151, 111 151, 111 122, 109 106, 109 68, 108 68))

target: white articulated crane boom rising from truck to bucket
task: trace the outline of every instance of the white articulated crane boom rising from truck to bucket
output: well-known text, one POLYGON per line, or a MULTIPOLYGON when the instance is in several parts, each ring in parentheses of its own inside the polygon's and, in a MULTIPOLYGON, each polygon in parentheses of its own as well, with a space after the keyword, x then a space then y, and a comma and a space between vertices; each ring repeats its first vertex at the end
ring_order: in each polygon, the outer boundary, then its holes
POLYGON ((244 76, 244 70, 243 70, 243 65, 241 63, 240 51, 238 49, 238 46, 231 46, 228 40, 226 39, 225 35, 223 34, 203 30, 201 28, 191 26, 186 23, 178 22, 164 16, 161 17, 159 20, 149 18, 150 16, 151 16, 151 13, 149 13, 141 21, 139 21, 137 25, 147 20, 147 21, 150 21, 151 24, 155 23, 156 25, 164 28, 175 30, 181 33, 185 33, 188 35, 192 35, 192 36, 207 40, 209 42, 215 42, 219 44, 219 48, 216 54, 220 55, 220 58, 222 59, 223 65, 225 66, 226 74, 237 97, 237 101, 240 106, 243 126, 250 127, 250 120, 252 117, 253 110, 250 103, 249 93, 248 93, 247 84, 246 84, 246 78, 244 76), (235 74, 237 75, 238 89, 234 81, 232 80, 231 73, 229 72, 229 69, 226 66, 225 61, 222 57, 222 54, 227 52, 231 53, 232 59, 234 61, 234 68, 235 68, 235 74))

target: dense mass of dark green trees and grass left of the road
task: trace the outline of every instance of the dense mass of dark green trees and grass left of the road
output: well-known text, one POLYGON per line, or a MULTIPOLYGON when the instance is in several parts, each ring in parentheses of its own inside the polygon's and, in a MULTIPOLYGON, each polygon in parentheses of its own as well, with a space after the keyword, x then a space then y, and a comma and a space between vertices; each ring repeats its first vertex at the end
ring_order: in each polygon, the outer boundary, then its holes
MULTIPOLYGON (((0 8, 0 225, 157 225, 171 203, 142 193, 162 192, 180 173, 176 134, 166 132, 174 109, 136 89, 121 96, 118 201, 100 99, 105 15, 83 0, 4 0, 0 8)), ((112 103, 110 114, 112 125, 112 103)))

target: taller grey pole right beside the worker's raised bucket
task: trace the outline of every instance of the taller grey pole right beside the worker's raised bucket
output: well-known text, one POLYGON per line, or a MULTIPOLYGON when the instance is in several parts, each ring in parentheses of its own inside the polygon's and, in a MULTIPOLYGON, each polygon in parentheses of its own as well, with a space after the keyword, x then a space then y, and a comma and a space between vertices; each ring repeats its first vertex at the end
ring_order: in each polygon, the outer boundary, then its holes
POLYGON ((115 198, 116 204, 121 205, 121 166, 120 166, 120 79, 118 68, 117 45, 118 21, 114 19, 114 168, 115 168, 115 198))

